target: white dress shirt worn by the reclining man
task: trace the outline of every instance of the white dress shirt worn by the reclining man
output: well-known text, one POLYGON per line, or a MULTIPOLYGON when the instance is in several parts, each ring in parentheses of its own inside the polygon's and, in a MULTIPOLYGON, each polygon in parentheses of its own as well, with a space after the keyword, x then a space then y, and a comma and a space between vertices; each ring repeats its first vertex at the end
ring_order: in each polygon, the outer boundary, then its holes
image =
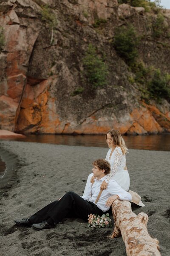
MULTIPOLYGON (((91 186, 92 183, 90 183, 88 185, 87 192, 85 193, 85 195, 82 195, 82 198, 95 204, 103 180, 105 180, 105 176, 102 177, 100 180, 96 179, 93 186, 91 186)), ((131 195, 124 189, 122 189, 115 180, 110 180, 107 189, 104 189, 102 191, 99 201, 96 204, 97 207, 99 207, 99 209, 101 209, 103 212, 108 211, 108 209, 110 208, 106 206, 106 201, 111 195, 118 195, 119 199, 126 201, 130 201, 132 199, 131 195)))

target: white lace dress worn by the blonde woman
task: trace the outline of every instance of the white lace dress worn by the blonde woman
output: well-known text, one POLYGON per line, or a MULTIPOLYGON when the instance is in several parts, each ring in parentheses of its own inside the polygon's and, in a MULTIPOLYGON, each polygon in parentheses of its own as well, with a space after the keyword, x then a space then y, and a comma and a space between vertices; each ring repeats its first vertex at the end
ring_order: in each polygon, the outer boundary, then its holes
MULTIPOLYGON (((116 180, 122 189, 128 191, 130 186, 130 177, 126 167, 126 156, 123 154, 122 149, 120 147, 116 147, 112 152, 112 149, 110 148, 105 159, 111 164, 111 172, 106 175, 105 181, 109 182, 111 179, 116 180)), ((88 175, 84 194, 88 189, 88 184, 90 183, 92 176, 93 173, 88 175)))

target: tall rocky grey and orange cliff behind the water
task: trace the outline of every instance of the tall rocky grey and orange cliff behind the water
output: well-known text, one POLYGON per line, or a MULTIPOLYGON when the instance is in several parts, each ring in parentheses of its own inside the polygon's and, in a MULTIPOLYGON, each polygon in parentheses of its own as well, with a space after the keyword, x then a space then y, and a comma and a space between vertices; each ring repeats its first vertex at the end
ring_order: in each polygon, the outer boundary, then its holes
MULTIPOLYGON (((163 15, 168 27, 169 13, 163 15)), ((143 99, 133 69, 113 47, 115 28, 133 24, 141 36, 138 61, 170 73, 170 39, 155 40, 148 26, 157 16, 117 0, 1 0, 0 128, 25 134, 170 132, 168 100, 143 99), (82 79, 89 44, 108 66, 105 86, 92 88, 82 79)))

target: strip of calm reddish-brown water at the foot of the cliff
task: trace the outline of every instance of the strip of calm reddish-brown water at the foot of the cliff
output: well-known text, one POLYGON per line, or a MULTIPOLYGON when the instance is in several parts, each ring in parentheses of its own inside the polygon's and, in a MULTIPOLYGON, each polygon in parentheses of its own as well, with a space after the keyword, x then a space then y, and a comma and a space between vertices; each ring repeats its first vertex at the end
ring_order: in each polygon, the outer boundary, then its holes
MULTIPOLYGON (((170 151, 170 134, 147 136, 123 136, 127 148, 170 151)), ((27 135, 17 141, 107 147, 104 135, 27 135)))

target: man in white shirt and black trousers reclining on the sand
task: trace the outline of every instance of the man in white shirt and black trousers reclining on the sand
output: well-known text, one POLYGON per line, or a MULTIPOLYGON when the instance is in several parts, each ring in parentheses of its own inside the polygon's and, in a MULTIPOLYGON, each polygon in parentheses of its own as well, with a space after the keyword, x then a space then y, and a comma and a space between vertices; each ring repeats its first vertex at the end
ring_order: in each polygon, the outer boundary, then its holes
POLYGON ((82 218, 88 220, 88 215, 102 215, 107 212, 116 199, 131 200, 131 195, 122 189, 115 180, 110 180, 107 189, 100 192, 100 186, 105 180, 105 175, 111 171, 110 163, 104 159, 93 162, 92 169, 96 177, 94 184, 89 184, 88 190, 82 197, 74 192, 67 192, 62 198, 48 204, 30 218, 14 220, 23 227, 33 227, 36 230, 54 228, 63 218, 82 218))

